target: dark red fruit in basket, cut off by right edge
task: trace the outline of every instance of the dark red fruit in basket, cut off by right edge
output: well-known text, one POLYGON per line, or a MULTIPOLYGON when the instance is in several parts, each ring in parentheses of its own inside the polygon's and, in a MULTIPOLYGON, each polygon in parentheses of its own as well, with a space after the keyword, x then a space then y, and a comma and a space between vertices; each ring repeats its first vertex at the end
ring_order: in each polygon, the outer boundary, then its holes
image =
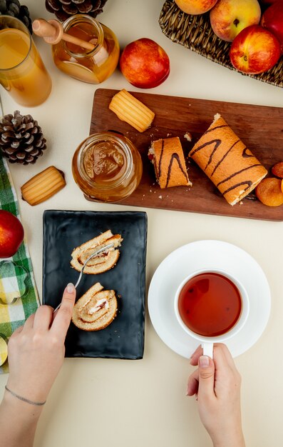
POLYGON ((271 31, 279 40, 283 54, 283 1, 277 0, 262 14, 260 24, 271 31))

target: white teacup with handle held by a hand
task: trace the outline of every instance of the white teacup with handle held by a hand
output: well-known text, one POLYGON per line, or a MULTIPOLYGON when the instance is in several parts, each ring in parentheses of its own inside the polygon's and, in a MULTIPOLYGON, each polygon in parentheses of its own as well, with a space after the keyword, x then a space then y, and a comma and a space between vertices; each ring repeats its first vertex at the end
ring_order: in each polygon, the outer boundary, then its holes
POLYGON ((189 276, 187 276, 182 281, 182 283, 180 283, 180 286, 178 286, 177 291, 175 293, 174 310, 175 310, 175 315, 176 315, 177 321, 180 324, 180 326, 184 329, 184 331, 186 333, 188 333, 190 336, 192 336, 192 338, 195 338, 197 341, 199 341, 202 344, 203 355, 210 356, 212 358, 213 357, 213 343, 223 343, 223 342, 227 341, 229 338, 234 337, 242 329, 242 327, 245 326, 247 317, 249 315, 249 297, 248 297, 247 291, 246 291, 245 287, 242 285, 242 283, 240 283, 240 281, 237 280, 230 273, 227 273, 227 272, 217 269, 217 268, 205 268, 205 269, 198 270, 198 271, 191 273, 189 276), (230 279, 230 281, 232 281, 232 283, 234 283, 235 286, 237 287, 237 289, 240 293, 241 300, 242 300, 242 308, 241 308, 240 316, 237 319, 235 325, 232 326, 232 328, 230 328, 227 332, 222 333, 219 336, 202 336, 199 333, 192 331, 190 328, 187 327, 187 325, 184 323, 184 321, 182 320, 182 318, 180 316, 178 303, 179 303, 179 296, 182 291, 182 288, 185 286, 185 284, 188 281, 190 281, 190 279, 192 279, 195 276, 200 275, 202 273, 217 273, 221 276, 225 276, 226 278, 230 279))

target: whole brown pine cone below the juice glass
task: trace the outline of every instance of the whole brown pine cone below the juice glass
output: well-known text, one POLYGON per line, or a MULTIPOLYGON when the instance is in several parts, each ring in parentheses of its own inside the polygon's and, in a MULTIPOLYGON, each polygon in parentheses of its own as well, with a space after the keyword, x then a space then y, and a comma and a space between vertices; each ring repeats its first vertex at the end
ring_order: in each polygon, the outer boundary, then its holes
POLYGON ((31 115, 5 115, 0 121, 0 150, 10 163, 34 164, 46 149, 41 127, 31 115))

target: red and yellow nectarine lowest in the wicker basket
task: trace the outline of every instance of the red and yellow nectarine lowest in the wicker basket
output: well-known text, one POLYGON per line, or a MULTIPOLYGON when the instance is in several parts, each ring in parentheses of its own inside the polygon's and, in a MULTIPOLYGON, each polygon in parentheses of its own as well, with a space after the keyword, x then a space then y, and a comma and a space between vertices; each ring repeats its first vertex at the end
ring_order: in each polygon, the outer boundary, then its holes
POLYGON ((243 29, 235 37, 230 49, 232 66, 247 74, 259 74, 271 69, 279 57, 279 41, 274 34, 259 25, 243 29))

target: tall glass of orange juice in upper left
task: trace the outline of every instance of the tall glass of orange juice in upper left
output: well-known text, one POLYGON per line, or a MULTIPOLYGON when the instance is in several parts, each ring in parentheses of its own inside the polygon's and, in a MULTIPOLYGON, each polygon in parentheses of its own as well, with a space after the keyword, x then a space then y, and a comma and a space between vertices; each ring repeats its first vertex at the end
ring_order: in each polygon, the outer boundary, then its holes
POLYGON ((29 29, 11 16, 0 16, 0 84, 26 107, 42 104, 52 87, 29 29))

